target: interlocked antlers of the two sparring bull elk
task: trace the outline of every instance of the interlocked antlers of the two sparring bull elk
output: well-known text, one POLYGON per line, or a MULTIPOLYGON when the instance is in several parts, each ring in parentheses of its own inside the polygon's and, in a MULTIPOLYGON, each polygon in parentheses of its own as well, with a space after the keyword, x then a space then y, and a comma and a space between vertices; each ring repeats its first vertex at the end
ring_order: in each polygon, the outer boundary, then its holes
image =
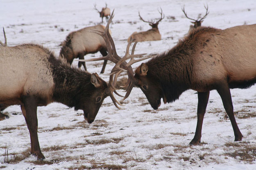
POLYGON ((132 43, 133 40, 130 40, 128 42, 128 45, 126 47, 125 56, 122 57, 122 58, 120 56, 118 56, 118 54, 116 53, 116 47, 115 47, 115 43, 113 41, 113 38, 109 34, 109 24, 111 23, 111 21, 113 19, 113 13, 114 13, 114 10, 111 13, 111 16, 109 18, 109 21, 108 21, 108 23, 106 25, 106 28, 105 28, 104 32, 99 31, 97 29, 92 29, 92 32, 94 32, 96 34, 99 34, 105 40, 108 54, 106 56, 104 56, 104 57, 92 58, 92 59, 88 59, 88 60, 78 60, 78 61, 110 60, 113 63, 116 63, 116 65, 111 70, 111 73, 109 74, 110 75, 109 76, 109 85, 108 85, 108 88, 106 90, 106 94, 108 94, 111 97, 114 105, 117 108, 120 109, 120 107, 118 107, 118 105, 122 105, 121 102, 124 101, 129 96, 129 94, 131 93, 131 89, 137 83, 136 79, 134 78, 134 72, 133 72, 133 69, 132 69, 131 65, 136 63, 136 62, 138 62, 138 61, 145 60, 145 59, 150 58, 150 57, 134 59, 135 57, 143 56, 145 54, 134 54, 134 50, 135 50, 137 42, 134 43, 134 45, 132 47, 132 50, 131 50, 131 54, 129 54, 129 48, 130 48, 131 43, 132 43), (130 59, 130 60, 127 63, 126 60, 128 60, 128 59, 130 59), (127 72, 127 75, 128 75, 127 86, 128 87, 127 87, 127 92, 126 92, 125 96, 122 96, 124 98, 119 102, 114 97, 113 92, 115 94, 117 94, 118 96, 121 96, 120 94, 118 94, 116 92, 116 90, 117 90, 116 89, 116 82, 117 82, 118 76, 122 72, 127 72))

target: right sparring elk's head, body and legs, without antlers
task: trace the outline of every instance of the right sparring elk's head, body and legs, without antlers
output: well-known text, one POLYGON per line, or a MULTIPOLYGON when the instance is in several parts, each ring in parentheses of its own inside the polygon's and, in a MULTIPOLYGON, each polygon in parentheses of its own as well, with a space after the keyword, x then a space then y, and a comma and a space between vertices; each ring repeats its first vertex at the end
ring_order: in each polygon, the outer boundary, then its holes
POLYGON ((169 51, 142 63, 134 78, 155 110, 161 98, 169 103, 187 89, 197 91, 197 127, 190 144, 201 141, 209 93, 216 89, 231 121, 235 141, 241 141, 230 88, 247 88, 256 83, 255 54, 256 25, 224 30, 199 27, 169 51))

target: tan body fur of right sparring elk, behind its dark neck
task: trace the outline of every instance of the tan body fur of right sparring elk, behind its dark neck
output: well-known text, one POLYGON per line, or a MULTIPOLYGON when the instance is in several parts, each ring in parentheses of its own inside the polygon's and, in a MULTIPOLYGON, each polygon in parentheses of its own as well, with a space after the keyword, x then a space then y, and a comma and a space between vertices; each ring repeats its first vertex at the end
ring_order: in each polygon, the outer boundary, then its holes
POLYGON ((216 29, 195 36, 195 42, 191 42, 197 51, 193 54, 197 56, 193 57, 193 78, 197 79, 193 89, 202 91, 205 83, 227 77, 229 84, 256 78, 256 25, 216 29), (205 83, 200 87, 198 82, 205 83))

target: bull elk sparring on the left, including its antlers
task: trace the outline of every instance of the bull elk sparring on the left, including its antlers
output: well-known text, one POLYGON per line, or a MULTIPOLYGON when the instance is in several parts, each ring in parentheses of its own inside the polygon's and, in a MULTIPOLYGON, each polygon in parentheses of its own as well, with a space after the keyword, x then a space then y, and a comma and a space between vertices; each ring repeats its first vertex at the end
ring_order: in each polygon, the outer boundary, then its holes
MULTIPOLYGON (((109 24, 102 34, 109 34, 109 24)), ((99 31, 99 30, 94 30, 99 31)), ((97 32, 98 33, 98 32, 97 32)), ((113 39, 111 39, 111 43, 113 39)), ((143 54, 129 54, 129 46, 125 57, 134 58, 143 54)), ((108 51, 115 50, 107 42, 108 51)), ((116 65, 109 76, 109 83, 102 80, 97 73, 90 74, 81 69, 70 67, 61 58, 41 45, 23 44, 15 47, 0 47, 0 109, 10 105, 20 105, 31 140, 31 153, 38 159, 44 159, 37 136, 37 106, 59 102, 74 107, 75 110, 84 111, 84 119, 92 123, 102 105, 104 98, 110 96, 114 105, 121 103, 116 100, 113 92, 116 92, 116 81, 119 69, 127 69, 127 63, 113 53, 102 57, 103 60, 111 60, 116 65), (13 67, 13 65, 19 67, 13 67), (34 67, 31 67, 33 65, 34 67)), ((138 59, 133 63, 140 61, 138 59)), ((130 63, 128 63, 130 64, 130 63)), ((133 76, 133 75, 131 75, 133 76)), ((127 94, 129 95, 129 94, 127 94)), ((118 107, 119 108, 119 107, 118 107)))

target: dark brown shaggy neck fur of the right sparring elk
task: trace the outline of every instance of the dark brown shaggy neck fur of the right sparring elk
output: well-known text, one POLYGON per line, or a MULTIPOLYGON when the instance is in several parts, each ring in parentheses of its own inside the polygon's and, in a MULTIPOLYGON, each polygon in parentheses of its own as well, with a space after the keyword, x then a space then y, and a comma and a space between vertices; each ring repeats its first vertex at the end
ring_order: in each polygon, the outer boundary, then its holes
POLYGON ((193 60, 190 56, 196 51, 194 41, 202 31, 213 29, 201 27, 170 49, 169 51, 149 60, 147 76, 160 82, 167 102, 175 101, 182 92, 191 88, 193 60))

